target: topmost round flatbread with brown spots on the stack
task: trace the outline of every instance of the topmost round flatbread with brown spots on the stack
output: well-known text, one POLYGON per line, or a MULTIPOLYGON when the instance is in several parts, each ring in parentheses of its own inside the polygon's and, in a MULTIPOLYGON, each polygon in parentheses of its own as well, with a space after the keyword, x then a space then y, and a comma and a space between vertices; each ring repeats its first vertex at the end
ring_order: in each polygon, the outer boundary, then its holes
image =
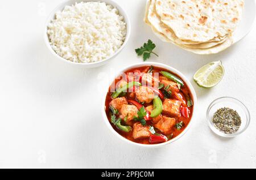
POLYGON ((242 0, 156 0, 156 13, 181 40, 208 42, 229 35, 241 19, 242 0))

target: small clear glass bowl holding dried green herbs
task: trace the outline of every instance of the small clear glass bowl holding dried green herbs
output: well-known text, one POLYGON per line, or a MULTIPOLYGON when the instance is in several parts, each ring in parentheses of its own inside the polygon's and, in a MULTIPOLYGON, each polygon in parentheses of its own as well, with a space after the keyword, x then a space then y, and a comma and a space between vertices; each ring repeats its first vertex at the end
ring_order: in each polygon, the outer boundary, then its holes
POLYGON ((225 138, 242 134, 250 124, 250 113, 246 106, 233 97, 220 97, 207 109, 210 129, 225 138))

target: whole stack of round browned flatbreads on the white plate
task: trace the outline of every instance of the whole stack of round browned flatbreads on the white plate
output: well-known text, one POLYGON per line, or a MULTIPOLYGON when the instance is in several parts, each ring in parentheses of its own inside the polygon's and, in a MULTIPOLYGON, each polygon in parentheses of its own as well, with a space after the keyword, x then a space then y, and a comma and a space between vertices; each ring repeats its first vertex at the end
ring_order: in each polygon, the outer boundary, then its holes
POLYGON ((243 0, 147 0, 144 22, 165 42, 214 54, 232 45, 243 5, 243 0))

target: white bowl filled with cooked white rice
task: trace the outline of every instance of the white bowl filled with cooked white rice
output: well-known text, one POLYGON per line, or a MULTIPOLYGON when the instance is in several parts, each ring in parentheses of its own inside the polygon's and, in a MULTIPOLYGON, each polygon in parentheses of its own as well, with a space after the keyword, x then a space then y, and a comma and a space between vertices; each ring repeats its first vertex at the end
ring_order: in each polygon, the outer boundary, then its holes
POLYGON ((92 68, 121 52, 130 29, 126 12, 112 0, 69 0, 49 15, 44 40, 57 59, 92 68))

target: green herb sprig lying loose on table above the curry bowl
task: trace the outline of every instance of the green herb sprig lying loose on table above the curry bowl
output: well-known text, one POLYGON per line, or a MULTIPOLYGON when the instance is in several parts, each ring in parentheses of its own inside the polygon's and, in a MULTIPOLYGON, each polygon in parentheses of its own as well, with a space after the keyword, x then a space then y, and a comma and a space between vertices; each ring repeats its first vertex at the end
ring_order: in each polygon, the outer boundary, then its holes
POLYGON ((144 43, 144 45, 141 46, 141 48, 135 49, 135 52, 138 56, 143 55, 143 61, 146 61, 150 58, 151 53, 158 57, 158 54, 153 52, 155 47, 156 45, 151 40, 148 40, 147 43, 144 43))

